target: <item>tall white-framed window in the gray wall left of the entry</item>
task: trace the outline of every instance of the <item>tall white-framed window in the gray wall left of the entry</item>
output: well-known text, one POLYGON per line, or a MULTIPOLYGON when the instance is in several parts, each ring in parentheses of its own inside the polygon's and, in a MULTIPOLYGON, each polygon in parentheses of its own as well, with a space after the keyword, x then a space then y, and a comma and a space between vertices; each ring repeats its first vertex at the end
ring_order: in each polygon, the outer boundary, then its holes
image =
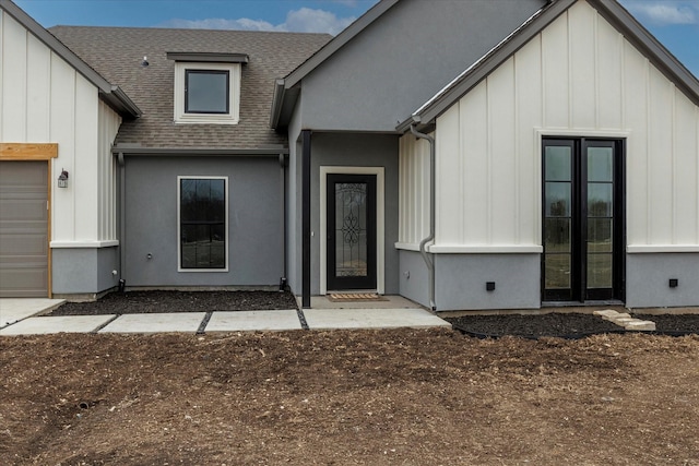
POLYGON ((228 177, 177 177, 178 272, 228 272, 228 177))

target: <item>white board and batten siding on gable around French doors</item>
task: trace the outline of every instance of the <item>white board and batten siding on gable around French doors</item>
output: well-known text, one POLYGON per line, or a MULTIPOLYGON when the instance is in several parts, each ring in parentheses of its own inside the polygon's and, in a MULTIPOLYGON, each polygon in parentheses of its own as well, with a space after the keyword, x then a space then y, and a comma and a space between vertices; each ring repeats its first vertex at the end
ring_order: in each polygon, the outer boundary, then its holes
POLYGON ((699 251, 699 107, 578 2, 438 117, 433 252, 541 251, 546 135, 625 139, 628 252, 699 251))

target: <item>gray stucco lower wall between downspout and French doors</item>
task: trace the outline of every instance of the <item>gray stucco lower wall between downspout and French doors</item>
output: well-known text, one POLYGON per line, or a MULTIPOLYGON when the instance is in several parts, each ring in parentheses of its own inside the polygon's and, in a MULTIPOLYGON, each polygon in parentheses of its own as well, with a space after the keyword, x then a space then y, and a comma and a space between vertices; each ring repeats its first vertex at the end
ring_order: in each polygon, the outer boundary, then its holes
POLYGON ((541 307, 540 254, 435 254, 435 271, 438 311, 541 307))

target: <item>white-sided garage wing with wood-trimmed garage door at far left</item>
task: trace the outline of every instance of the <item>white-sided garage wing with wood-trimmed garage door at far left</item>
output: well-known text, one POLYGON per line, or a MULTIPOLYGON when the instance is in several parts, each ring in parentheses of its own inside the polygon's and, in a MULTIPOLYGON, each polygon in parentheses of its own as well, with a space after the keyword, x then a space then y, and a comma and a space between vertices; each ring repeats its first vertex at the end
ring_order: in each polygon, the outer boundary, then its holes
POLYGON ((112 288, 111 143, 140 109, 13 3, 0 7, 0 297, 112 288))

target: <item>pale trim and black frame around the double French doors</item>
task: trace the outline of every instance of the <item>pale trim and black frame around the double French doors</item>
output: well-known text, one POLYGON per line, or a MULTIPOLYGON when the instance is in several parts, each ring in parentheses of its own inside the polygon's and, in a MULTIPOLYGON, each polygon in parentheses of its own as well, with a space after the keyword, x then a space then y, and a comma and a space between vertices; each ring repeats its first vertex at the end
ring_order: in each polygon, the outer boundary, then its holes
MULTIPOLYGON (((615 230, 613 231, 613 240, 618 244, 619 247, 619 251, 615 253, 615 255, 618 256, 619 259, 619 264, 618 267, 615 267, 615 272, 614 272, 614 276, 613 276, 613 283, 616 284, 615 287, 613 287, 613 292, 615 294, 615 296, 612 298, 613 301, 621 301, 621 302, 626 302, 626 256, 627 256, 627 218, 626 218, 626 203, 627 203, 627 178, 626 178, 626 170, 627 170, 627 151, 628 151, 628 138, 630 135, 629 132, 627 131, 600 131, 600 130, 593 130, 593 131, 569 131, 569 130, 541 130, 541 129, 536 129, 535 130, 535 141, 536 141, 536 154, 538 154, 540 157, 540 163, 536 165, 537 167, 537 178, 538 178, 538 186, 541 187, 541 199, 542 202, 538 203, 538 218, 540 218, 540 229, 538 229, 538 242, 540 244, 542 244, 542 248, 544 248, 544 172, 543 172, 543 167, 544 167, 544 159, 543 159, 543 154, 544 154, 544 140, 546 139, 554 139, 554 140, 573 140, 576 141, 576 144, 579 146, 579 151, 582 154, 582 151, 584 150, 584 144, 583 141, 584 140, 590 140, 590 141, 595 141, 595 140, 604 140, 604 141, 608 141, 608 142, 614 142, 615 146, 618 148, 619 154, 618 154, 618 159, 615 160, 615 167, 617 167, 617 169, 619 170, 618 172, 618 177, 615 176, 614 179, 614 195, 615 199, 620 199, 620 203, 615 203, 614 206, 614 217, 618 218, 619 222, 621 223, 620 227, 617 229, 615 228, 615 230), (618 242, 617 242, 618 241, 618 242)), ((581 180, 577 180, 574 181, 576 183, 581 182, 581 180)), ((542 252, 542 258, 541 258, 541 301, 542 303, 544 302, 557 302, 557 301, 550 301, 550 300, 545 300, 544 299, 544 294, 545 294, 545 284, 544 284, 544 252, 542 252)), ((574 295, 574 292, 573 292, 574 295)), ((561 301, 561 302, 578 302, 578 303, 585 303, 585 302, 592 302, 594 303, 595 300, 594 299, 585 299, 584 297, 584 292, 583 296, 580 297, 581 300, 577 301, 561 301)), ((606 300, 605 300, 606 301, 606 300)), ((600 302, 600 301, 597 301, 600 302)))

